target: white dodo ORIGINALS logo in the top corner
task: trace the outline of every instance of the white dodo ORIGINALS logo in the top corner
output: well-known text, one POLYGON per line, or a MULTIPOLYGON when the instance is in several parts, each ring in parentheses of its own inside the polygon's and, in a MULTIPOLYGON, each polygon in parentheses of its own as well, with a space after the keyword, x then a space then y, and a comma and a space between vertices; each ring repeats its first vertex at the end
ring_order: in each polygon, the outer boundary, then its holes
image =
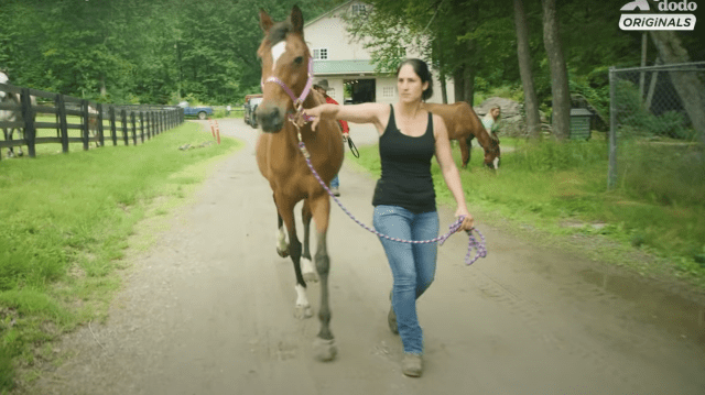
POLYGON ((647 0, 634 0, 626 3, 620 11, 633 11, 637 13, 622 13, 619 19, 621 30, 694 30, 695 15, 687 12, 697 10, 697 4, 688 0, 661 0, 657 7, 661 13, 649 13, 651 7, 647 0))

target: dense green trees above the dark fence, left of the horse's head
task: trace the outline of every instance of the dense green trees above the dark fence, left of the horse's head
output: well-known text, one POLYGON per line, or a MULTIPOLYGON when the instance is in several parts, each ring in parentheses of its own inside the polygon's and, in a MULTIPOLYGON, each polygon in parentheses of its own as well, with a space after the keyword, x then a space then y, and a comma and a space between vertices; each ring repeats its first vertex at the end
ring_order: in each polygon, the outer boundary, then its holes
POLYGON ((310 20, 339 1, 3 0, 0 68, 101 102, 227 103, 259 90, 259 8, 284 20, 294 3, 310 20))

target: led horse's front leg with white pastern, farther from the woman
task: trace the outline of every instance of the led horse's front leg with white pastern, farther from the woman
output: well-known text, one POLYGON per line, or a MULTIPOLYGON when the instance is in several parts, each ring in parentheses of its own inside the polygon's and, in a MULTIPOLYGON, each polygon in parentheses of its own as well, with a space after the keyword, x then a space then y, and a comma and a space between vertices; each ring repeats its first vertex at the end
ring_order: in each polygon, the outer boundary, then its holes
MULTIPOLYGON (((306 282, 301 273, 301 242, 296 237, 296 223, 294 221, 294 205, 289 199, 284 199, 282 196, 276 197, 276 208, 279 215, 286 227, 289 232, 289 254, 294 263, 294 274, 296 275, 296 305, 294 309, 294 317, 299 319, 313 317, 313 310, 311 304, 306 297, 306 282)), ((281 228, 280 228, 281 229, 281 228)))

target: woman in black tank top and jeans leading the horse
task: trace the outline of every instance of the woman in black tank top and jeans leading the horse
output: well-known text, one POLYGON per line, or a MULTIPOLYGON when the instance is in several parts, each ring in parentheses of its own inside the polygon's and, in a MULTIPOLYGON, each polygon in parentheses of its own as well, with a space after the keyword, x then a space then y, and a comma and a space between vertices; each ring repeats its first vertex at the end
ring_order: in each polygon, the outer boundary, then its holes
MULTIPOLYGON (((375 188, 375 228, 392 238, 427 240, 438 235, 438 213, 431 176, 435 154, 451 189, 457 217, 465 217, 460 230, 473 229, 460 176, 453 156, 445 123, 422 108, 433 95, 429 66, 420 59, 406 59, 397 70, 399 101, 394 105, 322 105, 306 110, 313 116, 313 129, 321 118, 355 123, 372 123, 380 134, 382 176, 375 188)), ((423 370, 423 337, 416 317, 416 299, 433 282, 436 268, 435 243, 409 244, 380 238, 394 285, 388 321, 399 331, 404 345, 402 372, 417 377, 423 370)))

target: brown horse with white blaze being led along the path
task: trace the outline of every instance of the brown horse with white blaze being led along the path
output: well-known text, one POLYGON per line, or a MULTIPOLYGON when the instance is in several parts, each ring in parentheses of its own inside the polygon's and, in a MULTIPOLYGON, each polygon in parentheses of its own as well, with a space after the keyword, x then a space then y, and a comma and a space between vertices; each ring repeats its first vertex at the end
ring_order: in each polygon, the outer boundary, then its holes
POLYGON ((257 164, 269 180, 274 196, 279 227, 276 250, 281 256, 291 255, 294 263, 297 294, 295 317, 299 319, 313 316, 306 298, 306 279, 315 281, 308 250, 311 219, 315 221, 315 268, 321 277, 321 330, 314 341, 314 349, 319 360, 330 361, 337 352, 329 327, 328 306, 329 257, 326 233, 330 200, 307 167, 297 144, 301 138, 311 153, 314 168, 329 184, 343 165, 343 136, 334 120, 322 120, 315 133, 310 123, 300 124, 299 129, 290 122, 294 113, 302 117, 297 112, 301 109, 294 101, 303 105, 303 108, 325 102, 322 95, 311 89, 313 59, 304 41, 304 19, 299 7, 294 6, 286 21, 276 23, 264 10, 260 10, 260 26, 264 31, 264 39, 257 54, 262 62, 263 99, 257 108, 257 120, 263 133, 257 142, 257 164), (294 206, 301 200, 304 201, 303 248, 296 237, 294 222, 294 206), (289 244, 285 242, 282 223, 286 226, 289 244))

